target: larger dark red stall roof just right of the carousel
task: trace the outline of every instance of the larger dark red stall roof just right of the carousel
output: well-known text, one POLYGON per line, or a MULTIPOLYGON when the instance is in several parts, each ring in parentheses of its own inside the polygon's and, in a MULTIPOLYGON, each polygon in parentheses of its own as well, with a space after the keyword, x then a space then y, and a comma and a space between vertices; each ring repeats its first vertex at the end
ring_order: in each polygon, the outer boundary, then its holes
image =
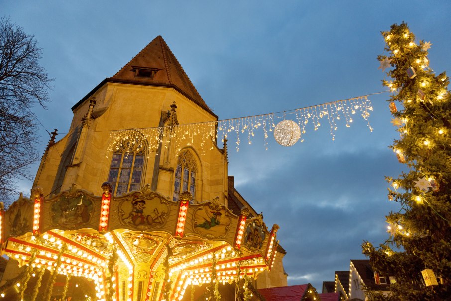
POLYGON ((316 300, 319 299, 317 292, 310 283, 259 289, 258 291, 266 301, 307 301, 314 300, 313 297, 316 297, 316 300))

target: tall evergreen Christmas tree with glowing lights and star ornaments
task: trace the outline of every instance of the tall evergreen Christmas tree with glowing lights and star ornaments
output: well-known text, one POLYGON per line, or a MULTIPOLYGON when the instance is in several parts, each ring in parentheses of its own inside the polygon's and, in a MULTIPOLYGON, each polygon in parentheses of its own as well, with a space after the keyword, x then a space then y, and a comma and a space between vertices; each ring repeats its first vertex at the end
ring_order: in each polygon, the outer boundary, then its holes
MULTIPOLYGON (((390 183, 388 199, 400 204, 386 216, 390 238, 362 245, 374 272, 390 277, 390 292, 366 290, 369 300, 451 300, 451 95, 445 72, 429 68, 430 42, 415 42, 407 24, 382 32, 390 68, 383 85, 400 139, 393 151, 406 171, 390 183), (398 107, 397 107, 398 106, 398 107)), ((388 278, 387 278, 388 279, 388 278)))

